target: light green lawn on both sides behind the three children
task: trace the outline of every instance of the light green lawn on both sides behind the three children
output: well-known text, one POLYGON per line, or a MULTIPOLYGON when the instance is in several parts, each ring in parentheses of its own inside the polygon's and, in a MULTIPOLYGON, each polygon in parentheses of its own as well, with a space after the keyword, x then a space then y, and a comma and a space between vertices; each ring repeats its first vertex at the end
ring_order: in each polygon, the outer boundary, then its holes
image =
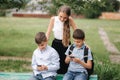
MULTIPOLYGON (((120 20, 75 19, 79 28, 86 33, 86 43, 96 55, 108 56, 103 45, 99 27, 105 29, 110 41, 120 50, 120 20), (106 53, 106 54, 105 54, 106 53)), ((41 18, 0 18, 0 55, 31 57, 36 48, 34 36, 39 31, 46 32, 49 19, 41 18)), ((49 44, 51 44, 53 36, 49 44)), ((71 38, 72 39, 72 38, 71 38)), ((100 58, 101 59, 101 58, 100 58)))

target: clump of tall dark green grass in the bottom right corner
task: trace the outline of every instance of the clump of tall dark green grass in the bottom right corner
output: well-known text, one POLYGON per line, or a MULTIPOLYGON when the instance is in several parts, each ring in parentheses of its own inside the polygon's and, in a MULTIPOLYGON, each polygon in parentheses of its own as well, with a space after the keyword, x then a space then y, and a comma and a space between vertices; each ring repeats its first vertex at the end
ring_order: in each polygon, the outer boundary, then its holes
POLYGON ((95 73, 98 75, 99 80, 119 80, 120 79, 120 64, 113 64, 107 59, 96 62, 95 73))

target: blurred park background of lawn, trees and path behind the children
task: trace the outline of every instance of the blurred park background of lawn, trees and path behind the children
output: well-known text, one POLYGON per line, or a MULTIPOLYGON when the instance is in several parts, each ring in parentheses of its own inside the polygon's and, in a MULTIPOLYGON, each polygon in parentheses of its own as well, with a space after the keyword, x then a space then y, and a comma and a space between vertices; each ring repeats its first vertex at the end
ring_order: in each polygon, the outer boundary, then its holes
MULTIPOLYGON (((47 0, 38 1, 38 5, 42 5, 40 9, 44 15, 46 15, 45 10, 50 12, 50 16, 56 15, 58 7, 66 4, 72 7, 74 15, 84 16, 73 17, 77 26, 86 33, 86 43, 94 55, 94 74, 98 75, 99 80, 119 80, 120 19, 99 19, 102 12, 120 14, 119 1, 84 0, 86 2, 82 2, 82 0, 76 0, 70 3, 67 0, 52 0, 53 5, 49 6, 45 1, 47 0), (117 8, 115 3, 119 3, 117 8)), ((34 36, 39 31, 46 32, 50 18, 12 17, 13 12, 25 13, 25 11, 32 10, 31 14, 38 14, 35 12, 38 8, 32 4, 32 8, 28 9, 31 7, 30 5, 26 7, 29 0, 11 0, 11 2, 10 6, 10 0, 0 1, 0 4, 3 5, 0 5, 0 72, 32 72, 31 57, 33 50, 37 47, 34 36), (21 5, 15 5, 14 2, 21 5)), ((49 45, 51 45, 52 39, 53 34, 49 39, 49 45)))

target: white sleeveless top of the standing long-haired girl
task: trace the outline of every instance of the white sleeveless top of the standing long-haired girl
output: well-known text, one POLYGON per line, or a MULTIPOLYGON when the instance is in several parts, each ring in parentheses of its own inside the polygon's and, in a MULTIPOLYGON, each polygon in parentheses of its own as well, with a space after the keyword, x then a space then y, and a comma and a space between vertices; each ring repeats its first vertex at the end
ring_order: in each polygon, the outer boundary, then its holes
POLYGON ((63 39, 63 25, 64 22, 61 22, 58 16, 55 16, 54 26, 53 26, 53 34, 56 39, 63 39))

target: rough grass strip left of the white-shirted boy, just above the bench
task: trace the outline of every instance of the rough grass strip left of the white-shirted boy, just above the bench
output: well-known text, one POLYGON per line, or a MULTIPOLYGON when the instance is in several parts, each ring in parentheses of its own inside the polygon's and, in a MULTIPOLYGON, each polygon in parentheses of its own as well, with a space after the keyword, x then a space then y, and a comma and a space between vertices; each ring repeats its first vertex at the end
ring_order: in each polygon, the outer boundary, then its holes
POLYGON ((13 61, 13 60, 0 60, 1 72, 30 72, 30 62, 27 61, 13 61))

